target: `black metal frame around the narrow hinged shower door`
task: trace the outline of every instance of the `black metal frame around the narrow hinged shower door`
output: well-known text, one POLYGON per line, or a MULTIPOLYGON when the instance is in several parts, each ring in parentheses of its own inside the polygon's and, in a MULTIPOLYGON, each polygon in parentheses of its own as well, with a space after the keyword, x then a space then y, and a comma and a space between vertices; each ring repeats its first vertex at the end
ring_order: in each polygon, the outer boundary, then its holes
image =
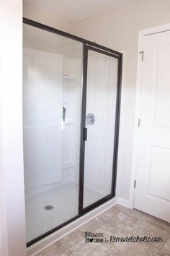
POLYGON ((98 207, 107 200, 115 197, 115 187, 116 187, 116 174, 117 174, 117 151, 118 151, 118 139, 119 139, 119 127, 120 127, 120 93, 121 93, 121 80, 122 80, 122 58, 104 51, 100 48, 95 48, 93 46, 86 45, 84 43, 84 61, 83 61, 83 95, 82 95, 82 113, 81 113, 81 156, 80 156, 80 175, 79 175, 79 216, 84 213, 89 212, 98 207), (86 142, 83 140, 83 131, 86 127, 86 84, 87 84, 87 68, 88 68, 88 51, 96 51, 99 54, 104 54, 116 58, 118 60, 117 67, 117 98, 116 98, 116 108, 115 108, 115 140, 114 140, 114 152, 113 152, 113 163, 112 163, 112 188, 111 193, 100 200, 88 205, 86 208, 83 207, 84 203, 84 156, 85 156, 85 145, 86 142))

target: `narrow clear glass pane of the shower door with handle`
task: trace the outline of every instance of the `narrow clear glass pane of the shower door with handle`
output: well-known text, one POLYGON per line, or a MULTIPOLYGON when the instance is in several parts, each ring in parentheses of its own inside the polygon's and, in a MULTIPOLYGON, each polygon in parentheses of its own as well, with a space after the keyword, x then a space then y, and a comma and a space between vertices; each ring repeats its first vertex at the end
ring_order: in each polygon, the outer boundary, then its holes
POLYGON ((84 208, 112 192, 117 59, 88 51, 84 208))

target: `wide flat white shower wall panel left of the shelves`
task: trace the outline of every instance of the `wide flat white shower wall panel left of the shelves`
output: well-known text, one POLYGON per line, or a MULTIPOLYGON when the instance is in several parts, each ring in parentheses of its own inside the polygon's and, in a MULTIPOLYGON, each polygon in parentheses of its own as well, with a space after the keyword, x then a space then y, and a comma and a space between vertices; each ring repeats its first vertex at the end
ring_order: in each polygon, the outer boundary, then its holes
POLYGON ((61 182, 63 56, 24 48, 23 59, 24 179, 31 189, 61 182))

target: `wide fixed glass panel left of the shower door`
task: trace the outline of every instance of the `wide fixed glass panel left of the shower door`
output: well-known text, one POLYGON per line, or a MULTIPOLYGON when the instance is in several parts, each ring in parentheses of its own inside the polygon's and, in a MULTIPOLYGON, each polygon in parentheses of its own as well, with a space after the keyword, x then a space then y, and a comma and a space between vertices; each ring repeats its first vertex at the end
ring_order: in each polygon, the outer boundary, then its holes
POLYGON ((27 242, 78 215, 82 44, 24 25, 27 242))

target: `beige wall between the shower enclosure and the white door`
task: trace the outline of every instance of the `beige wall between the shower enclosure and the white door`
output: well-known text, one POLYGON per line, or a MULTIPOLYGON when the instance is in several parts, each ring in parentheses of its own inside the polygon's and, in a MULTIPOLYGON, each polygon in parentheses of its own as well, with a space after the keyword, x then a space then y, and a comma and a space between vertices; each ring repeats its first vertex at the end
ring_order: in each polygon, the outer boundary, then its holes
POLYGON ((141 0, 76 23, 76 35, 127 52, 117 193, 128 199, 133 150, 138 30, 170 22, 169 0, 141 0))

